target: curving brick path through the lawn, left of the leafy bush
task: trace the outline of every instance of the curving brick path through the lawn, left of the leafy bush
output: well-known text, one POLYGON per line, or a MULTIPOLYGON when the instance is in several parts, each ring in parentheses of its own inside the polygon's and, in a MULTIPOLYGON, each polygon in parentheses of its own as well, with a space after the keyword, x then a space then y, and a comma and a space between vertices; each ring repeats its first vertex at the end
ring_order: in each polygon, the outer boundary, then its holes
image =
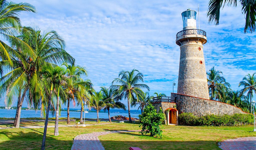
POLYGON ((104 147, 100 143, 98 136, 120 133, 120 132, 138 132, 138 131, 105 131, 105 132, 93 132, 87 134, 81 134, 74 138, 74 142, 71 150, 104 150, 104 147))

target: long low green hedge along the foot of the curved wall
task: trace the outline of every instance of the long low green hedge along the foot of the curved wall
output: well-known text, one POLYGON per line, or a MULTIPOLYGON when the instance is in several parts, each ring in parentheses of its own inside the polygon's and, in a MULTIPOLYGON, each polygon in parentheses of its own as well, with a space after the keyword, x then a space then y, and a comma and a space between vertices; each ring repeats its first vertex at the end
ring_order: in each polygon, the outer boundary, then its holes
POLYGON ((179 114, 179 124, 189 126, 238 126, 253 124, 252 114, 195 116, 192 113, 179 114))

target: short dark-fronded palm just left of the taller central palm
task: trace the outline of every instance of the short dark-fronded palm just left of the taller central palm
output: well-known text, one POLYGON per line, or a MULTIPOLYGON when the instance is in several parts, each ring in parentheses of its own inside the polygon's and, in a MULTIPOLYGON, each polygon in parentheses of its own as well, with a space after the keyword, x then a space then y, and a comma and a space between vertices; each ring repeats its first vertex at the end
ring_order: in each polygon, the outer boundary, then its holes
POLYGON ((110 114, 109 110, 110 108, 118 108, 118 109, 123 109, 126 110, 125 105, 120 102, 120 97, 118 95, 117 90, 112 90, 111 88, 106 88, 106 87, 100 87, 102 91, 102 99, 104 103, 106 104, 104 111, 108 110, 108 115, 109 115, 109 122, 111 122, 110 119, 110 114))

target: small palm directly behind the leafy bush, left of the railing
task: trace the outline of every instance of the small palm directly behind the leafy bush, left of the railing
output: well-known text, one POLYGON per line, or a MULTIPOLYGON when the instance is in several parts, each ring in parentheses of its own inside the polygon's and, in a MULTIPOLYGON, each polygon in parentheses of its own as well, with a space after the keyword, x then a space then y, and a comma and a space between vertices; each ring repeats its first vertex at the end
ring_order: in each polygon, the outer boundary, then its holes
MULTIPOLYGON (((156 92, 155 92, 156 93, 156 92)), ((154 94, 155 94, 154 93, 154 94)), ((160 93, 161 94, 161 93, 160 93)), ((149 92, 143 92, 140 93, 140 97, 138 100, 135 100, 132 102, 132 106, 136 106, 137 104, 139 105, 138 110, 141 109, 141 113, 143 112, 143 109, 145 108, 145 106, 147 106, 148 104, 151 104, 151 97, 149 96, 149 92)), ((157 93, 158 95, 158 93, 157 93)), ((165 95, 165 94, 164 94, 165 95)), ((158 95, 159 96, 159 95, 158 95)))

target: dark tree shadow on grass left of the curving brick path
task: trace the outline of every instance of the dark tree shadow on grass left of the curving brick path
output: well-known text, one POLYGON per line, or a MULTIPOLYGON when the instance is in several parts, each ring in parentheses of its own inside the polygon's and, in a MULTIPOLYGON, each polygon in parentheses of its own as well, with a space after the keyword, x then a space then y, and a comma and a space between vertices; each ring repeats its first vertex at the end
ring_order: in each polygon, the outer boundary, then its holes
MULTIPOLYGON (((33 130, 33 129, 30 129, 33 130)), ((33 130, 36 131, 36 130, 33 130)), ((36 132, 24 131, 0 131, 3 137, 0 140, 1 150, 18 150, 18 149, 41 149, 43 135, 38 131, 36 132)), ((71 149, 73 144, 72 140, 58 140, 52 135, 46 136, 46 149, 71 149)))

